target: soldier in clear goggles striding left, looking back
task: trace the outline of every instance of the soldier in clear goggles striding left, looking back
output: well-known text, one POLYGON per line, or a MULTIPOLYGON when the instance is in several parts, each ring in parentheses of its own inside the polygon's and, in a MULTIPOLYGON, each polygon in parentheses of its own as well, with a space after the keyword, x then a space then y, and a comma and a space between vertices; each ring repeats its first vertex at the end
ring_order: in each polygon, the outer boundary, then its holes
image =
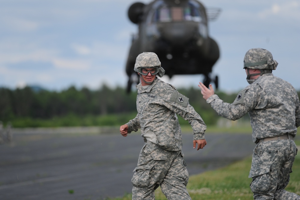
POLYGON ((138 114, 120 126, 124 137, 141 129, 145 142, 131 180, 132 199, 154 200, 154 191, 160 186, 169 200, 189 200, 186 190, 189 173, 181 151, 182 135, 176 114, 192 126, 193 147, 197 150, 206 145, 206 125, 187 97, 156 77, 156 74, 162 77, 165 70, 155 53, 139 54, 134 70, 141 79, 136 85, 138 114))

